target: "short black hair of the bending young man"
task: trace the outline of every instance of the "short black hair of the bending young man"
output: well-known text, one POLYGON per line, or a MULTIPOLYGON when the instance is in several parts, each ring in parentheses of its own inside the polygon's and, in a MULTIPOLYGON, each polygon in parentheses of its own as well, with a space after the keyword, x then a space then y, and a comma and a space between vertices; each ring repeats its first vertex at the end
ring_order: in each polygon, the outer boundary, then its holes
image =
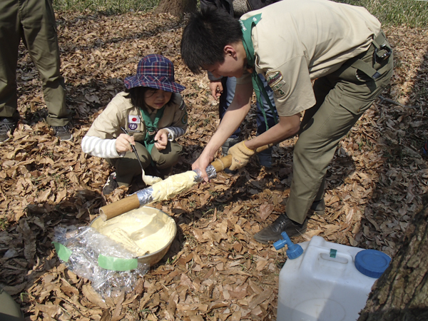
POLYGON ((222 63, 223 49, 241 41, 240 23, 224 10, 208 9, 190 16, 181 39, 181 58, 190 71, 200 73, 203 66, 222 63))

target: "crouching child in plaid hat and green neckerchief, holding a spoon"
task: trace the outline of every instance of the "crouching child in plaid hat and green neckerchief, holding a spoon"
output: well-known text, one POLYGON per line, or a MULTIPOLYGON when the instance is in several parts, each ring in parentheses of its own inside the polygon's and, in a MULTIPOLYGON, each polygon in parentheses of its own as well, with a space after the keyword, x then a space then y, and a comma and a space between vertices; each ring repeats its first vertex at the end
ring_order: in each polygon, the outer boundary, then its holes
POLYGON ((133 176, 142 171, 143 180, 151 185, 142 168, 153 165, 158 175, 166 176, 183 149, 175 138, 187 129, 188 114, 180 95, 185 87, 175 83, 173 63, 161 55, 148 55, 138 63, 136 75, 125 78, 125 86, 81 143, 84 153, 106 158, 116 169, 104 185, 103 195, 130 185, 133 176))

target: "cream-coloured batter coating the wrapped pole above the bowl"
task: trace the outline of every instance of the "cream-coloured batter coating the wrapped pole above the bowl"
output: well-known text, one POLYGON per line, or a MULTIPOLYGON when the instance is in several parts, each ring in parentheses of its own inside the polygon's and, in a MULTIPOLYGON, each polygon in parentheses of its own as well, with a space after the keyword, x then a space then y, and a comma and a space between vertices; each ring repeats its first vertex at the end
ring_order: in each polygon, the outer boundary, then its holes
POLYGON ((195 185, 196 174, 193 170, 188 170, 185 173, 171 175, 170 177, 158 182, 152 186, 153 202, 158 200, 169 200, 180 194, 184 190, 195 185))

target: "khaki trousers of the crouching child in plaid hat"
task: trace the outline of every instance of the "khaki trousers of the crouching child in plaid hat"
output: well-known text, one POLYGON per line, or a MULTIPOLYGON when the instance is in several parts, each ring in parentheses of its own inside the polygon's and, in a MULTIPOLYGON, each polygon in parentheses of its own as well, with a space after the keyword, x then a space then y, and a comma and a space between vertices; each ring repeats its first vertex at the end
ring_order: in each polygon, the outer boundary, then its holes
MULTIPOLYGON (((151 154, 149 154, 147 148, 143 146, 143 144, 136 143, 136 150, 144 169, 148 168, 153 160, 156 169, 161 172, 161 175, 167 175, 173 165, 178 163, 178 158, 181 151, 183 151, 183 146, 179 143, 168 141, 168 145, 165 149, 158 151, 158 149, 153 146, 151 154)), ((127 152, 125 156, 121 158, 110 158, 107 159, 107 161, 116 168, 116 181, 119 186, 128 186, 131 184, 133 176, 141 175, 140 164, 138 164, 136 154, 133 152, 127 152)))

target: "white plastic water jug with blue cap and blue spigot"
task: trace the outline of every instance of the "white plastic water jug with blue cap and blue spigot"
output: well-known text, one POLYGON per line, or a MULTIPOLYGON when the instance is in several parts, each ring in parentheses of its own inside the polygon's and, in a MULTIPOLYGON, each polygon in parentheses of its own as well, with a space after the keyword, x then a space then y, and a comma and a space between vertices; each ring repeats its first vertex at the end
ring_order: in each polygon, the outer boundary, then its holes
POLYGON ((282 237, 277 243, 287 244, 290 253, 287 250, 288 260, 280 271, 277 321, 357 320, 391 258, 320 236, 297 245, 285 233, 282 237))

